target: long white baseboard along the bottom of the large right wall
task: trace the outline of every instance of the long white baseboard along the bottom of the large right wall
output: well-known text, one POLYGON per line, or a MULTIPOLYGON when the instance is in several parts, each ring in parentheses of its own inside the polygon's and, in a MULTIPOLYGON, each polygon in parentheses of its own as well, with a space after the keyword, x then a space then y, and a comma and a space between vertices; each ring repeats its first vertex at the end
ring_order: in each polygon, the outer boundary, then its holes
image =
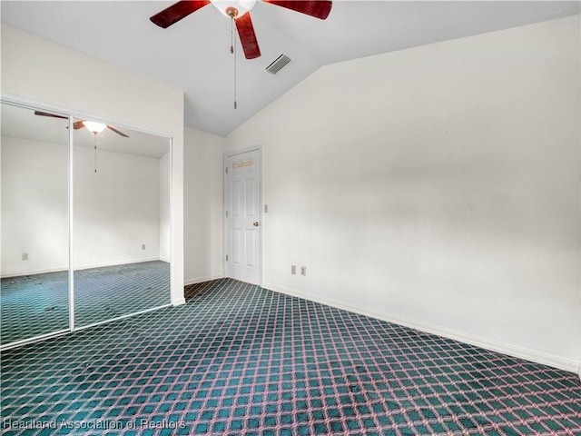
POLYGON ((353 304, 348 304, 345 302, 340 302, 336 300, 320 298, 303 292, 291 291, 288 289, 282 289, 281 287, 265 283, 264 288, 269 289, 274 292, 281 292, 287 295, 303 298, 305 300, 310 300, 312 302, 320 302, 331 307, 336 307, 338 309, 343 309, 349 312, 359 313, 361 315, 366 315, 371 318, 376 318, 378 320, 393 322, 399 325, 410 327, 412 329, 419 330, 421 332, 428 332, 432 334, 437 334, 448 339, 453 339, 458 342, 465 342, 470 345, 476 345, 478 347, 491 350, 493 352, 501 352, 512 357, 517 357, 519 359, 524 359, 530 362, 542 363, 547 366, 558 368, 559 370, 564 370, 568 372, 575 372, 581 377, 580 364, 581 362, 572 361, 569 359, 564 359, 546 352, 538 352, 536 350, 529 350, 524 347, 513 345, 506 342, 492 341, 487 338, 483 338, 477 335, 469 334, 466 332, 459 332, 457 330, 448 329, 446 327, 441 327, 435 324, 430 324, 428 322, 421 322, 418 320, 409 319, 406 317, 401 317, 394 315, 389 312, 378 312, 370 311, 369 308, 356 306, 353 304))

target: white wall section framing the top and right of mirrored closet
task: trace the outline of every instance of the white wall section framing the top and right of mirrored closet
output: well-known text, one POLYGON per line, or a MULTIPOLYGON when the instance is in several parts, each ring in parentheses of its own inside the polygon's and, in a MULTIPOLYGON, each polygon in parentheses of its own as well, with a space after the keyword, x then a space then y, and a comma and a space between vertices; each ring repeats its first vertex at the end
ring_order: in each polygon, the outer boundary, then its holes
POLYGON ((4 96, 172 135, 172 303, 183 298, 183 92, 2 25, 4 96))

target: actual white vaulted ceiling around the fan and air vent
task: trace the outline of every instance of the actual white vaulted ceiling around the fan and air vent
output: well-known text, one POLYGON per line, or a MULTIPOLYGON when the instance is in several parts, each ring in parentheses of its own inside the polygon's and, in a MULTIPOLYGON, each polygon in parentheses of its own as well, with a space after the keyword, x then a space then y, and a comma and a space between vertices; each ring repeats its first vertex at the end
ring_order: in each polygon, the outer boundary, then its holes
MULTIPOLYGON (((261 57, 238 48, 233 107, 231 23, 207 5, 162 29, 149 17, 174 2, 2 1, 2 21, 185 92, 185 124, 229 134, 320 66, 579 13, 572 2, 335 0, 329 17, 261 3, 251 11, 261 57), (264 68, 280 54, 279 74, 264 68)), ((106 116, 106 114, 103 114, 106 116)))

